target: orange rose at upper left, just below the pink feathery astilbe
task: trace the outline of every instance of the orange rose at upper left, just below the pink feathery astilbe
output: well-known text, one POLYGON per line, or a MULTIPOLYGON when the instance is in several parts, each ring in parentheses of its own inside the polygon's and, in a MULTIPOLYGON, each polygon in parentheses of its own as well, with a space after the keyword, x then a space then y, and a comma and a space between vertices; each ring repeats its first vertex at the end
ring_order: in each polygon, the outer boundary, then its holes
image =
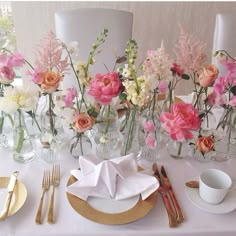
POLYGON ((59 87, 59 83, 62 80, 62 77, 53 72, 47 71, 42 74, 41 89, 46 93, 53 93, 59 87))

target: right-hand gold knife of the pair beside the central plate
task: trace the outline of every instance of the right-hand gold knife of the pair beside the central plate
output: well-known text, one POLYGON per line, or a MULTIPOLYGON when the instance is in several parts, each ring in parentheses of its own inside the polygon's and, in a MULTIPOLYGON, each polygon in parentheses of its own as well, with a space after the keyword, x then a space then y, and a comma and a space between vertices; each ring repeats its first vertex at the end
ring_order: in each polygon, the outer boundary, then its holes
POLYGON ((165 189, 169 192, 170 194, 170 198, 174 204, 175 210, 176 210, 176 218, 177 218, 177 222, 181 223, 184 221, 184 215, 183 212, 179 206, 179 203, 176 199, 175 193, 173 191, 173 188, 170 184, 170 180, 166 174, 165 168, 164 166, 161 166, 161 179, 163 180, 163 184, 165 186, 165 189))

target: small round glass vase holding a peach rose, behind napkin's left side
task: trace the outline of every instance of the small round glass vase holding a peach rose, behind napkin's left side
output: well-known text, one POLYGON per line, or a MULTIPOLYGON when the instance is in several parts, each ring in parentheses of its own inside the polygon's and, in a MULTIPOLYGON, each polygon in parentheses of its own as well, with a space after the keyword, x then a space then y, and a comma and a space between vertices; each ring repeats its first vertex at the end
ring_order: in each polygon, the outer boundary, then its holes
POLYGON ((86 156, 92 152, 92 141, 84 133, 76 133, 71 139, 70 153, 75 158, 78 159, 80 156, 86 156))

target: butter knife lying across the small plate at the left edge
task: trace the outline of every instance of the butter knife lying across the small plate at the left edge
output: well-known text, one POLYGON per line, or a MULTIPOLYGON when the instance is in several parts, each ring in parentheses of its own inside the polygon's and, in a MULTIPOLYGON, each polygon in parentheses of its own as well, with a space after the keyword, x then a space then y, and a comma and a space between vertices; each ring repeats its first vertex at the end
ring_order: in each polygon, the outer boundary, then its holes
POLYGON ((13 192, 14 192, 14 188, 16 186, 16 180, 17 180, 18 174, 19 174, 19 171, 15 171, 11 175, 9 184, 7 186, 7 189, 8 189, 7 199, 6 199, 6 202, 5 202, 5 205, 4 205, 3 212, 0 215, 0 221, 3 221, 8 217, 8 212, 9 212, 9 209, 10 209, 12 195, 13 195, 13 192))

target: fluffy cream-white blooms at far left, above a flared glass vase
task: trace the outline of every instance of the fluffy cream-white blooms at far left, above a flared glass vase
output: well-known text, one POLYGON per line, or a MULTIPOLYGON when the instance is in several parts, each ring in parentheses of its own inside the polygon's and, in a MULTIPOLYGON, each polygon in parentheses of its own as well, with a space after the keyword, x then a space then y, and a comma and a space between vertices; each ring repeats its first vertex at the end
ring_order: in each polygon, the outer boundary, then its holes
POLYGON ((38 102, 37 90, 25 87, 7 87, 4 90, 4 97, 0 98, 0 110, 6 113, 14 113, 17 109, 31 111, 38 102))

